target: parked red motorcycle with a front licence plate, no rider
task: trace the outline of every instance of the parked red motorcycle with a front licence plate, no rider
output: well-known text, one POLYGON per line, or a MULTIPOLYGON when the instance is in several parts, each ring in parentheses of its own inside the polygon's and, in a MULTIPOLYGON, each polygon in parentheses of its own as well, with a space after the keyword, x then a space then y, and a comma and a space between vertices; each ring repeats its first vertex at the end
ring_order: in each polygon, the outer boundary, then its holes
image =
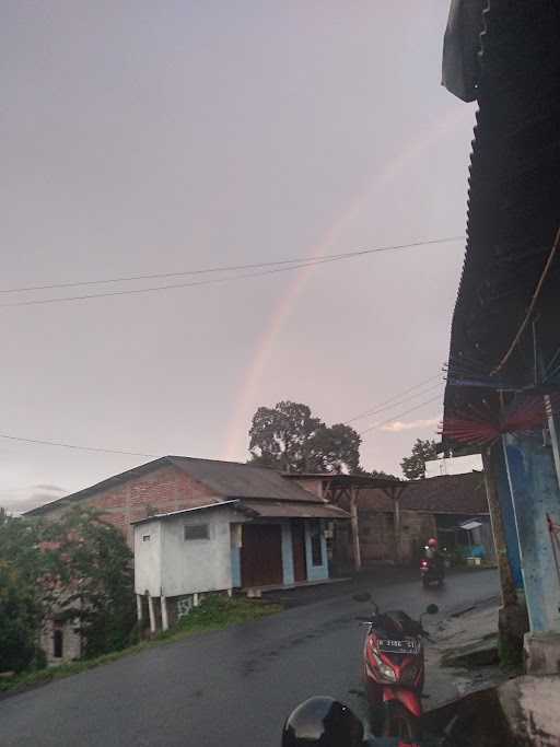
MULTIPOLYGON (((430 605, 425 611, 435 615, 439 609, 430 605)), ((366 625, 363 676, 372 732, 417 742, 424 686, 422 639, 428 637, 422 620, 401 610, 380 614, 375 607, 366 625)))

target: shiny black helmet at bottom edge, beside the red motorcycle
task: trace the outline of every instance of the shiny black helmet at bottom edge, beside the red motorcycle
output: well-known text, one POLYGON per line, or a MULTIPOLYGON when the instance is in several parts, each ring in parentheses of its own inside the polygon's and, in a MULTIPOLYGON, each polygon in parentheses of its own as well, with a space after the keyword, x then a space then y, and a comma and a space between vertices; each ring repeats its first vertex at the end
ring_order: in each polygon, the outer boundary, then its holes
POLYGON ((363 726, 352 711, 332 698, 310 698, 288 717, 282 747, 359 747, 363 726))

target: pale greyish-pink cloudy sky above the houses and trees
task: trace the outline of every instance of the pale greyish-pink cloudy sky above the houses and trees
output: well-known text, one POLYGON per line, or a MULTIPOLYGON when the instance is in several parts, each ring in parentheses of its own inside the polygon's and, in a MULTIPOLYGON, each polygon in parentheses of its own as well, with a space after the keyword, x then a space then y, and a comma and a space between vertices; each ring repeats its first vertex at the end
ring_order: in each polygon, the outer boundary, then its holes
POLYGON ((463 236, 475 110, 440 84, 447 10, 2 2, 0 504, 140 455, 245 460, 253 413, 284 399, 366 431, 369 469, 435 436, 462 240, 100 299, 9 305, 228 275, 4 291, 463 236))

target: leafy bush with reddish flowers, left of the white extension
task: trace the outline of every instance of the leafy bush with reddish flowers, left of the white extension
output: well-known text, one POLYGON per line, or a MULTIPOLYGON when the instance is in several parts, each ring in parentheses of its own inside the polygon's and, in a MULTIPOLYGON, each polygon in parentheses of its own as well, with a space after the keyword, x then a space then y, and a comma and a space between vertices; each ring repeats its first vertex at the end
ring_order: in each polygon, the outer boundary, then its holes
POLYGON ((122 534, 75 509, 45 529, 45 593, 85 642, 85 656, 126 646, 136 625, 132 553, 122 534))

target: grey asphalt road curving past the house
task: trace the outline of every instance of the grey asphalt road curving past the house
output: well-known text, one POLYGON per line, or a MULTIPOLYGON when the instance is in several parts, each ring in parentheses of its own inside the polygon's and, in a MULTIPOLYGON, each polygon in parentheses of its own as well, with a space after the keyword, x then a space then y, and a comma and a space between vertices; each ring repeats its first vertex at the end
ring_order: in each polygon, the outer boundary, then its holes
MULTIPOLYGON (((383 574, 382 571, 380 571, 383 574)), ((383 608, 439 617, 495 595, 495 571, 456 574, 443 590, 370 582, 383 608)), ((283 720, 312 695, 363 710, 368 605, 334 596, 258 622, 163 644, 0 701, 1 747, 276 746, 283 720)), ((430 677, 427 676, 427 692, 430 677)))

